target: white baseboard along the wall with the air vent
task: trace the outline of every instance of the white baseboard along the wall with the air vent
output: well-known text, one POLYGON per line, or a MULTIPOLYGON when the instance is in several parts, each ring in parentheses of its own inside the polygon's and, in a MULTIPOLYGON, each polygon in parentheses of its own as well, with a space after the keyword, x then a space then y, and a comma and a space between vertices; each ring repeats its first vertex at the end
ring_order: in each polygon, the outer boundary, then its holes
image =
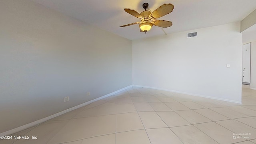
POLYGON ((152 88, 152 89, 156 89, 156 90, 164 90, 164 91, 168 91, 168 92, 176 92, 176 93, 180 93, 180 94, 188 94, 188 95, 192 95, 192 96, 199 96, 199 97, 203 97, 203 98, 210 98, 210 99, 214 99, 214 100, 222 100, 222 101, 226 101, 226 102, 234 102, 234 103, 242 104, 241 101, 228 100, 228 99, 224 99, 224 98, 216 98, 216 97, 212 97, 212 96, 204 96, 204 95, 200 95, 200 94, 191 94, 188 92, 180 92, 180 91, 168 90, 168 89, 164 89, 164 88, 155 88, 155 87, 140 86, 140 85, 133 85, 133 86, 142 87, 142 88, 152 88))

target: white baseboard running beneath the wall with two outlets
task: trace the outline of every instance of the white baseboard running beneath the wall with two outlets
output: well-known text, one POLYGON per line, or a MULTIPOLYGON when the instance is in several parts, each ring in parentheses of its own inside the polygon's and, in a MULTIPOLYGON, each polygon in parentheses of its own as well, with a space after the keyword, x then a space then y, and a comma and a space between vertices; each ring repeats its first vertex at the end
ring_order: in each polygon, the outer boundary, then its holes
POLYGON ((46 117, 46 118, 42 118, 42 119, 40 119, 40 120, 36 120, 36 121, 34 121, 34 122, 31 122, 31 123, 29 123, 29 124, 25 124, 25 125, 20 126, 20 127, 18 127, 18 128, 14 128, 14 129, 12 129, 12 130, 8 130, 8 131, 6 131, 6 132, 2 132, 2 133, 0 133, 0 136, 8 136, 8 135, 14 134, 14 133, 16 133, 16 132, 20 132, 20 131, 22 131, 22 130, 26 130, 27 128, 31 128, 31 127, 33 127, 33 126, 36 126, 36 125, 42 123, 42 122, 46 122, 47 120, 50 120, 50 119, 52 119, 52 118, 55 118, 55 117, 57 117, 57 116, 60 116, 60 115, 65 114, 65 113, 67 113, 67 112, 70 112, 70 111, 72 111, 72 110, 75 110, 75 109, 77 109, 77 108, 81 108, 81 107, 86 106, 86 105, 88 105, 88 104, 90 104, 90 103, 92 103, 92 102, 96 102, 97 100, 101 100, 101 99, 106 98, 106 97, 108 97, 108 96, 112 96, 112 95, 114 95, 114 94, 116 94, 116 93, 118 93, 118 92, 121 92, 121 91, 126 90, 126 89, 128 89, 128 88, 131 88, 132 86, 133 86, 133 85, 126 86, 125 88, 122 88, 122 89, 120 89, 120 90, 116 90, 116 91, 114 91, 114 92, 112 92, 112 93, 110 93, 110 94, 106 94, 106 95, 104 95, 104 96, 101 96, 101 97, 96 98, 96 99, 94 99, 94 100, 90 100, 90 101, 85 102, 85 103, 83 103, 83 104, 79 104, 79 105, 74 106, 74 107, 72 107, 72 108, 69 108, 69 109, 67 109, 67 110, 63 110, 63 111, 61 111, 61 112, 58 112, 58 113, 53 114, 53 115, 51 115, 51 116, 48 116, 48 117, 46 117))

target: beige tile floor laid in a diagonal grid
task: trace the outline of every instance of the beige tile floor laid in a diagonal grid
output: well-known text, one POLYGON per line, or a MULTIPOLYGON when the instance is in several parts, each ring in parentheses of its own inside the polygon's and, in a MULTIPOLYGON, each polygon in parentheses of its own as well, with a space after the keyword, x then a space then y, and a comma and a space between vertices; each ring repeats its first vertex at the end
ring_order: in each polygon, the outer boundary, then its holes
POLYGON ((242 91, 235 104, 134 87, 14 134, 37 140, 0 143, 256 144, 256 90, 242 91))

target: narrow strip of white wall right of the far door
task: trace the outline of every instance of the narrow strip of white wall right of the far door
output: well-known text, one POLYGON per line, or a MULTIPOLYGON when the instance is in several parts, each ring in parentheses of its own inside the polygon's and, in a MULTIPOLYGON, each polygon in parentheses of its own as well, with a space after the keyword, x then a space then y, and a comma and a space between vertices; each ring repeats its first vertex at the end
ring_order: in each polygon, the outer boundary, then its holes
POLYGON ((251 81, 250 88, 256 90, 256 41, 251 43, 251 81))

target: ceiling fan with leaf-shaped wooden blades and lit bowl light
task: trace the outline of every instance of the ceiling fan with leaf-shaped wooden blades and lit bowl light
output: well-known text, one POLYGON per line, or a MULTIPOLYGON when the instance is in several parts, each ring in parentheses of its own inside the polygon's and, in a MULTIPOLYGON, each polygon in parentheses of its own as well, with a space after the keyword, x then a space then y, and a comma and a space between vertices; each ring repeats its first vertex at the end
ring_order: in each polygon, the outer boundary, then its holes
POLYGON ((148 3, 142 4, 142 7, 145 9, 140 14, 136 12, 135 10, 131 10, 130 8, 125 8, 124 11, 131 14, 132 16, 135 16, 136 18, 140 19, 140 22, 134 22, 132 24, 126 24, 120 27, 125 26, 131 26, 134 24, 140 24, 140 32, 148 32, 153 25, 159 26, 162 28, 168 28, 172 26, 172 22, 167 20, 157 20, 157 18, 160 18, 162 16, 165 16, 166 14, 169 14, 174 9, 174 6, 172 4, 163 4, 153 12, 150 12, 149 10, 146 10, 148 8, 148 3))

